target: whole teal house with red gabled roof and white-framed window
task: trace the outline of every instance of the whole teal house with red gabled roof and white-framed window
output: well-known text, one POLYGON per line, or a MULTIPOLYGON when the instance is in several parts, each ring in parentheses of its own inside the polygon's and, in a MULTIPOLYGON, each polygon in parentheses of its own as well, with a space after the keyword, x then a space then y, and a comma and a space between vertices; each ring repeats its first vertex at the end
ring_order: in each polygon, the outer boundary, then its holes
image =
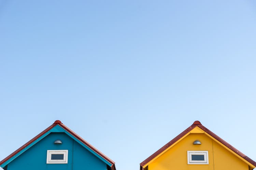
POLYGON ((4 170, 116 170, 113 160, 56 120, 0 162, 4 170))

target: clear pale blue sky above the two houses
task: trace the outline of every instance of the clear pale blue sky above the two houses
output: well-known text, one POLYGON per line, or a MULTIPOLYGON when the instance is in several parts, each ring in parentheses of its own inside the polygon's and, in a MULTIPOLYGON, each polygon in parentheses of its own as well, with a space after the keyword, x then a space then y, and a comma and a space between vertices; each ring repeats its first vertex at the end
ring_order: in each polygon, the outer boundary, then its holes
POLYGON ((61 120, 139 163, 195 120, 256 160, 256 2, 0 0, 0 159, 61 120))

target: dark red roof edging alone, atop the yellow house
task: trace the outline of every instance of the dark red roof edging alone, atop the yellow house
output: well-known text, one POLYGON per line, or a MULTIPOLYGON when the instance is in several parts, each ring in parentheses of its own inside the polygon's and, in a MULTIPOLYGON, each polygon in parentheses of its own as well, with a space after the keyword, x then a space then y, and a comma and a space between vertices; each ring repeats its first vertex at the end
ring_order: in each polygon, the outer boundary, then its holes
POLYGON ((171 145, 173 145, 176 141, 178 141, 180 138, 182 138, 184 135, 186 135, 189 131, 191 131, 192 129, 194 129, 196 126, 198 126, 199 128, 201 128, 203 131, 205 131, 206 133, 208 133, 209 135, 211 135, 213 138, 215 138, 216 140, 218 140, 219 142, 221 142, 223 145, 225 145, 226 147, 228 147, 229 149, 231 149, 233 152, 237 153, 239 156, 241 156, 242 158, 244 158, 245 160, 247 160, 249 163, 251 163, 252 165, 256 166, 256 162, 254 160, 252 160, 251 158, 249 158, 248 156, 244 155, 242 152, 240 152, 239 150, 237 150, 236 148, 234 148, 233 146, 231 146, 228 142, 226 142, 225 140, 223 140, 222 138, 220 138, 219 136, 217 136, 216 134, 214 134, 212 131, 210 131, 209 129, 205 128, 200 121, 195 121, 191 126, 189 126, 186 130, 184 130, 182 133, 180 133, 178 136, 176 136, 175 138, 173 138, 170 142, 168 142, 166 145, 164 145, 163 147, 161 147, 159 150, 157 150, 155 153, 153 153, 150 157, 146 158, 143 162, 140 163, 140 169, 142 169, 142 167, 149 163, 152 159, 154 159, 157 155, 159 155, 160 153, 162 153, 164 150, 166 150, 168 147, 170 147, 171 145))

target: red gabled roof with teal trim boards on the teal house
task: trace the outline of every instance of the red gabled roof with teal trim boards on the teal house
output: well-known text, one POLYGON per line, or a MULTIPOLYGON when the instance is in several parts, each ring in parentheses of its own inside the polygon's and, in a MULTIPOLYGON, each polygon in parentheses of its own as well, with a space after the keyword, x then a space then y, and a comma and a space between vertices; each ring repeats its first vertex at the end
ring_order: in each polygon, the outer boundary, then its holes
POLYGON ((7 164, 9 164, 12 160, 14 160, 17 156, 19 156, 20 154, 22 154, 23 152, 25 152, 27 149, 29 149, 31 146, 33 146, 35 143, 37 143, 38 141, 40 141, 42 138, 44 138, 45 136, 47 136, 49 133, 56 132, 56 130, 58 132, 65 132, 66 134, 68 134, 70 137, 72 137, 74 140, 76 140, 77 142, 79 142, 82 146, 84 146, 86 149, 88 149, 91 153, 93 153, 94 155, 96 155, 97 157, 99 157, 103 162, 105 162, 107 165, 109 165, 111 167, 112 170, 116 170, 115 168, 115 162, 113 160, 111 160, 109 157, 107 157, 106 155, 104 155, 103 153, 101 153, 99 150, 97 150, 95 147, 93 147, 92 145, 90 145, 90 143, 88 143, 87 141, 85 141, 83 138, 81 138, 79 135, 77 135, 75 132, 73 132, 72 130, 70 130, 67 126, 65 126, 63 123, 61 123, 61 121, 56 120, 51 126, 49 126, 48 128, 46 128, 43 132, 41 132, 40 134, 38 134, 37 136, 35 136, 33 139, 31 139, 30 141, 28 141, 27 143, 25 143, 22 147, 20 147, 19 149, 17 149, 16 151, 14 151, 12 154, 10 154, 9 156, 7 156, 6 158, 4 158, 1 162, 0 162, 0 166, 3 168, 5 167, 7 164))

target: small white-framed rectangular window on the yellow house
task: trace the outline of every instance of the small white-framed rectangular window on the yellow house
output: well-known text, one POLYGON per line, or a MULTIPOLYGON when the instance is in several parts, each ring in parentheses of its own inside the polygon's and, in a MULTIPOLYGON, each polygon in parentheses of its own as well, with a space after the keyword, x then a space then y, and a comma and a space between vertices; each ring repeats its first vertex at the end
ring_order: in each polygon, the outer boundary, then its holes
POLYGON ((208 151, 187 151, 187 164, 209 164, 208 151))

